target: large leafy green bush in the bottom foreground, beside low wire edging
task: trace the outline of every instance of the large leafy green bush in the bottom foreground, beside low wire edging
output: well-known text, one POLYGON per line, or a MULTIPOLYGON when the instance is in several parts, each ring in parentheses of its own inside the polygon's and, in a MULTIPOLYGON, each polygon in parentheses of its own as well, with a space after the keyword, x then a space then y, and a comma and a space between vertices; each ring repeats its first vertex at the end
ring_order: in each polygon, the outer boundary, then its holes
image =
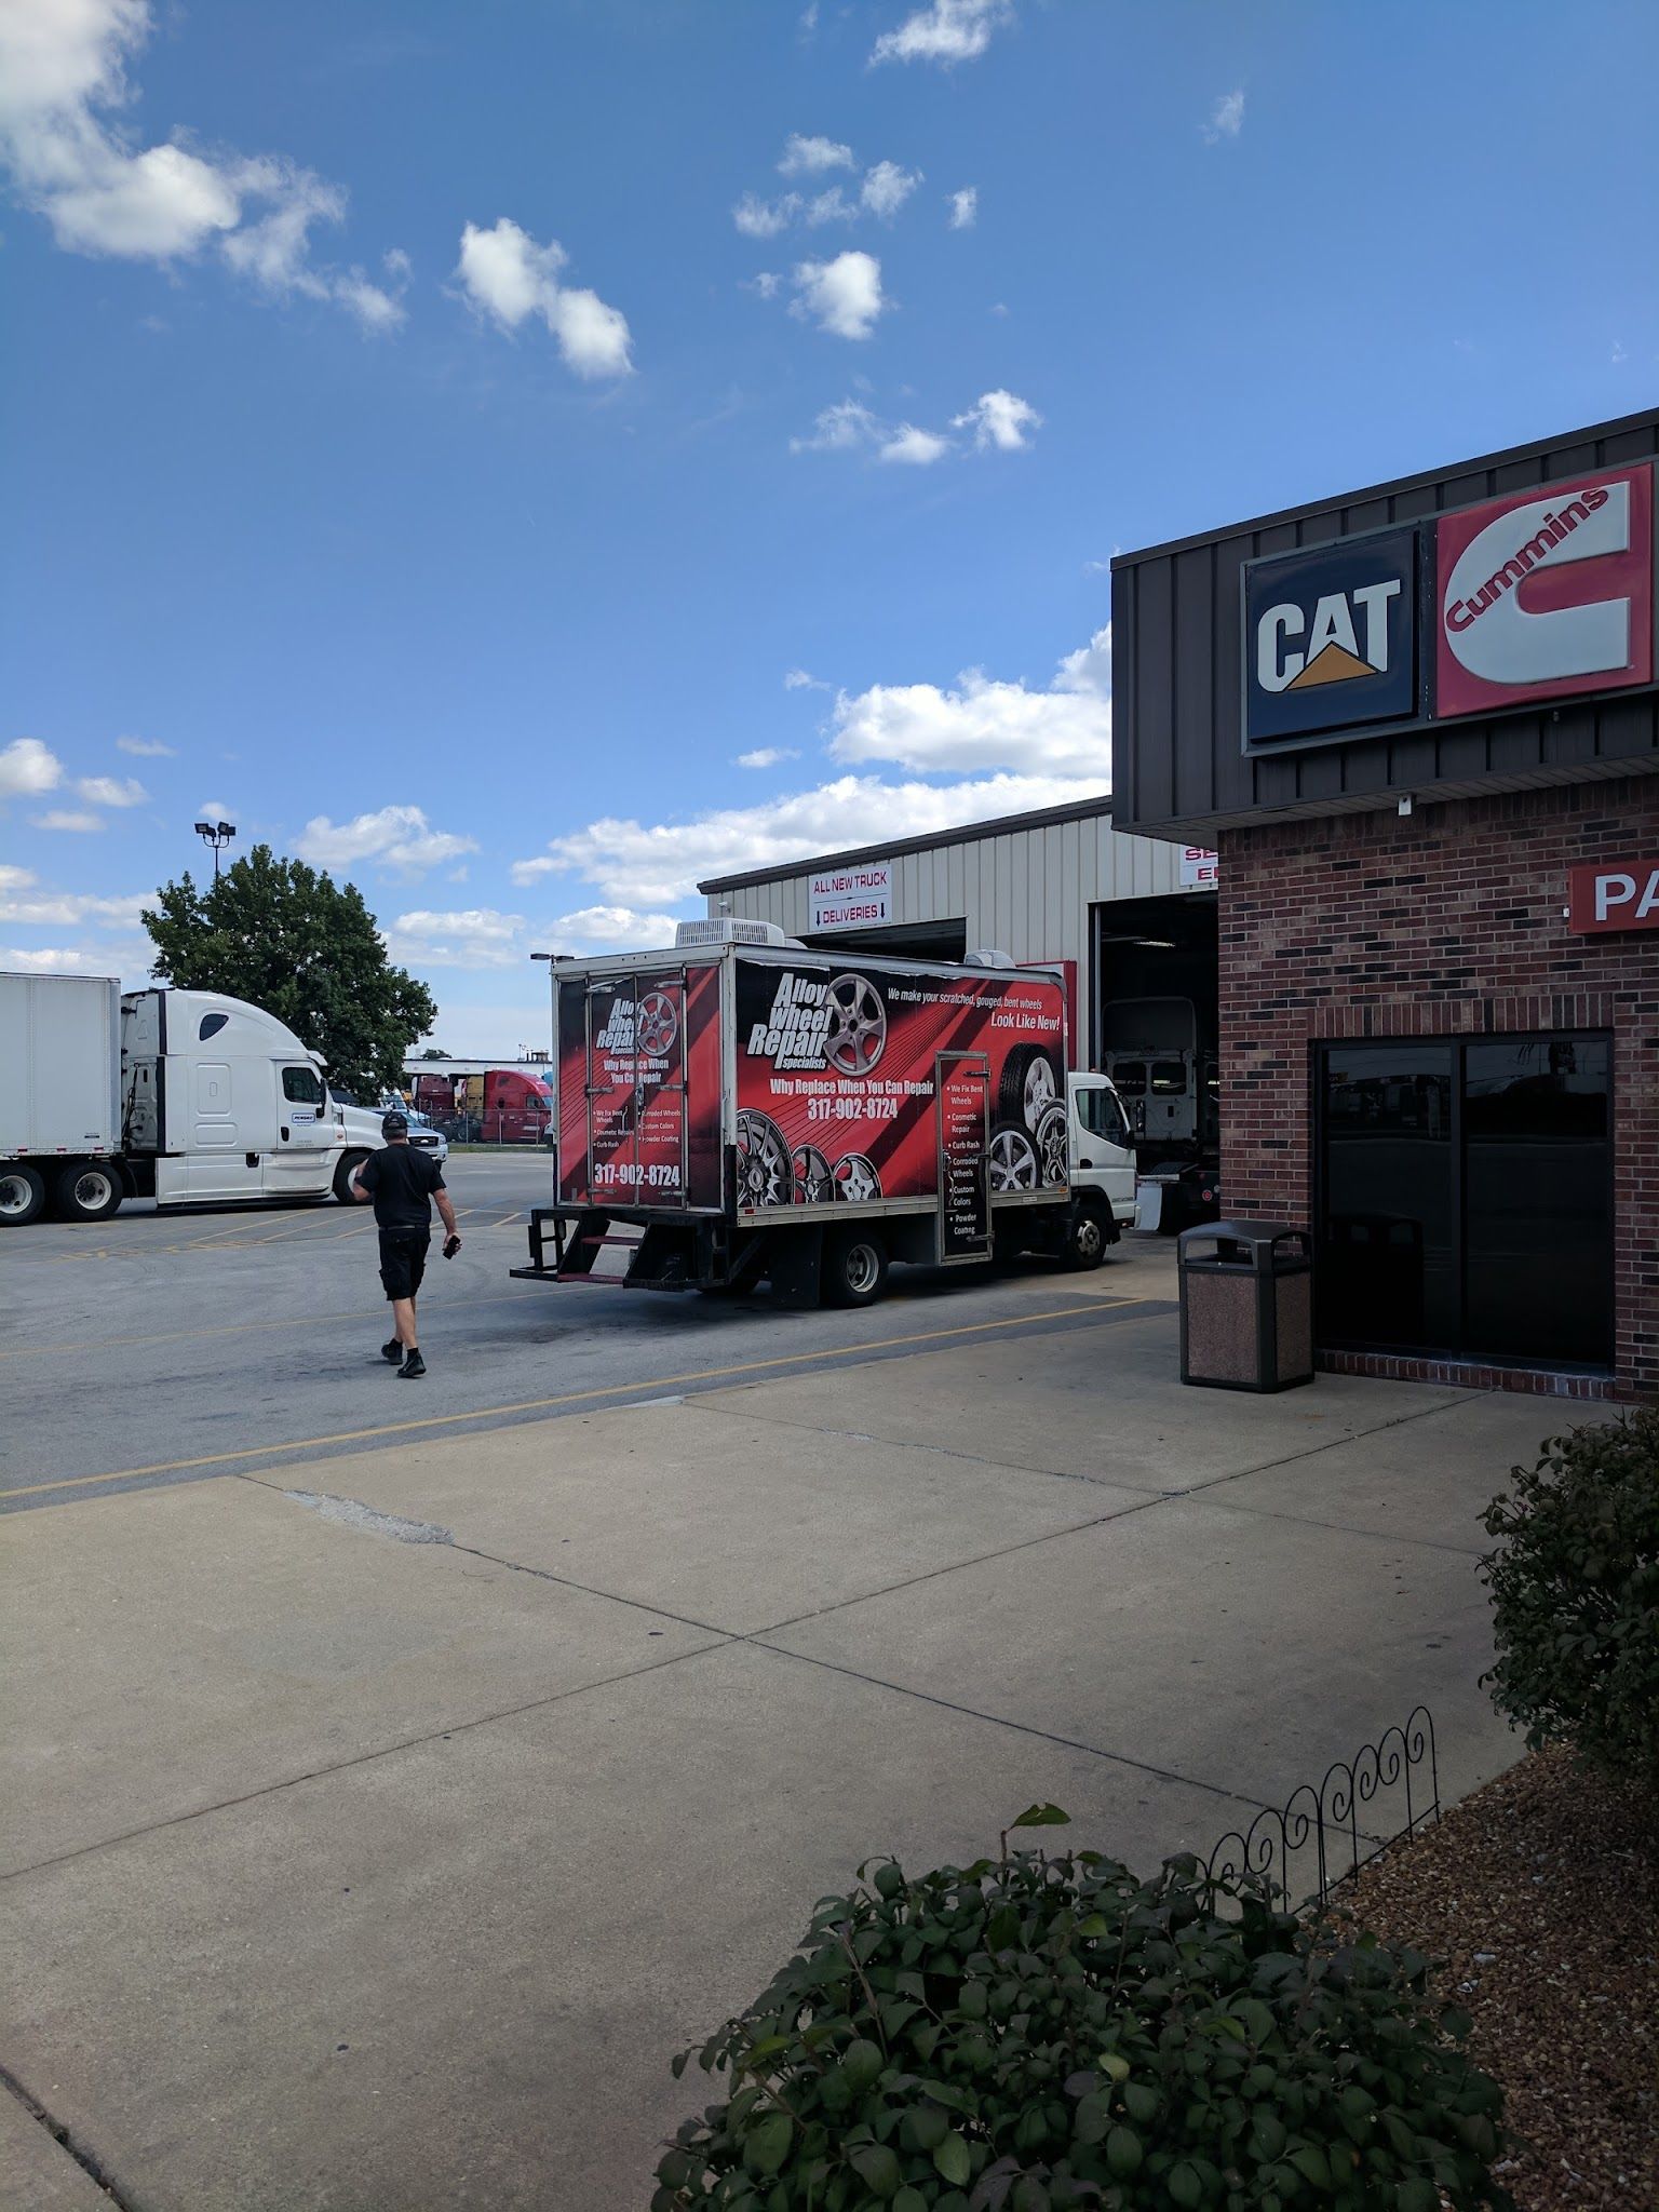
MULTIPOLYGON (((1033 1807, 1015 1825, 1064 1820, 1033 1807)), ((692 2057, 653 2212, 1455 2212, 1506 2208, 1500 2090, 1427 1960, 1177 1858, 1097 1851, 825 1898, 692 2057), (1442 2194, 1444 2192, 1444 2194, 1442 2194)))

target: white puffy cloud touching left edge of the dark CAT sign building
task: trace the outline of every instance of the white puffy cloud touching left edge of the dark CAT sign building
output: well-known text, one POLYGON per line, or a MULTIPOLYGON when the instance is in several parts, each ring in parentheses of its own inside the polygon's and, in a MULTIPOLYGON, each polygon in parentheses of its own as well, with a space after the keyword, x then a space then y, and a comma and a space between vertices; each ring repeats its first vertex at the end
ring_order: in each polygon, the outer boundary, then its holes
POLYGON ((998 684, 969 668, 953 690, 872 684, 836 695, 836 761, 896 761, 922 774, 1004 768, 1018 774, 1110 781, 1110 633, 1068 653, 1046 690, 998 684))

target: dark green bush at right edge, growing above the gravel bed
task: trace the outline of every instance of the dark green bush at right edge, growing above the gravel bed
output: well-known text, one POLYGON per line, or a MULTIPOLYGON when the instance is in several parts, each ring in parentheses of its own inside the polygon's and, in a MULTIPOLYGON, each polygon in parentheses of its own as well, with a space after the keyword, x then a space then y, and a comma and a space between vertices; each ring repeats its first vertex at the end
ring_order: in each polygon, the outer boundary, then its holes
POLYGON ((1546 1438, 1484 1513, 1493 1703, 1659 1787, 1659 1411, 1546 1438))

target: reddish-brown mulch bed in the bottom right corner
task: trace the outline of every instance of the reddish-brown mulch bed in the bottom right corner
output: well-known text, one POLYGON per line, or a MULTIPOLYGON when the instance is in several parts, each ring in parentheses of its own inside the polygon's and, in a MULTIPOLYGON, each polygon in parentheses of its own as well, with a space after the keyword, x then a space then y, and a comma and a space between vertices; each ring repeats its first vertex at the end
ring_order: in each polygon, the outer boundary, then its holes
POLYGON ((1524 1759, 1338 1891, 1436 1962, 1520 2148, 1520 2212, 1659 2208, 1659 1809, 1571 1752, 1524 1759))

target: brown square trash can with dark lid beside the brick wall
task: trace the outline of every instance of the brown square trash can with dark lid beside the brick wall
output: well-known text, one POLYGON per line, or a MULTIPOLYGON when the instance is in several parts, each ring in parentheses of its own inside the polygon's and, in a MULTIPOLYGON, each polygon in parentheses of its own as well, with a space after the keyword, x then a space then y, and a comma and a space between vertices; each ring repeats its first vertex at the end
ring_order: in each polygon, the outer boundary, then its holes
POLYGON ((1279 1221, 1183 1230, 1181 1380, 1214 1389, 1292 1389, 1314 1380, 1314 1256, 1279 1221))

